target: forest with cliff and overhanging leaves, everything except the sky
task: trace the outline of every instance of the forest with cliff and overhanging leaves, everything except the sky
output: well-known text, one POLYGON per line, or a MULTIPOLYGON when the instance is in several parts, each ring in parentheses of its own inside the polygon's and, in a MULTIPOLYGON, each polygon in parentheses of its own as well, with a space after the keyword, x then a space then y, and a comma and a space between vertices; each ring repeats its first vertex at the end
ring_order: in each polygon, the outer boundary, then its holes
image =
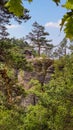
POLYGON ((73 1, 62 7, 65 36, 54 45, 36 21, 25 37, 9 38, 5 24, 30 13, 21 0, 0 1, 0 130, 73 130, 73 1))

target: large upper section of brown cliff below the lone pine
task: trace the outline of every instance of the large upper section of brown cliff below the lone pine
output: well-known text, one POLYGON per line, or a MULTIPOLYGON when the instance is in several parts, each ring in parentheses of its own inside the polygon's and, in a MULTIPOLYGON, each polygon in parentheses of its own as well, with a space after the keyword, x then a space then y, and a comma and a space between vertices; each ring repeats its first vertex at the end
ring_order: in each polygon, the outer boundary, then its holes
POLYGON ((53 73, 53 60, 51 59, 35 59, 33 61, 33 71, 24 72, 24 82, 29 83, 31 79, 38 80, 41 85, 48 83, 53 73))

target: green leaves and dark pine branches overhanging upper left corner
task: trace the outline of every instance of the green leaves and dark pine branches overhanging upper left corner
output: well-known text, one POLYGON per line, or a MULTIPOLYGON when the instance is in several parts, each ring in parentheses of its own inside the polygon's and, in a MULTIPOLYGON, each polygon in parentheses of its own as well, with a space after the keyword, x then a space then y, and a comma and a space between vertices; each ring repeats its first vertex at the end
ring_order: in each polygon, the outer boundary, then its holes
POLYGON ((0 39, 5 38, 9 35, 9 33, 7 32, 6 24, 10 25, 11 18, 14 18, 19 23, 30 18, 28 14, 29 11, 27 9, 25 9, 25 13, 21 13, 22 11, 24 12, 24 8, 22 9, 21 5, 18 5, 20 3, 19 0, 17 0, 17 2, 13 2, 13 0, 11 0, 9 1, 9 3, 7 3, 7 0, 0 1, 0 39), (7 8, 9 3, 10 6, 12 5, 12 7, 7 8), (16 13, 13 12, 12 8, 16 11, 16 13))

